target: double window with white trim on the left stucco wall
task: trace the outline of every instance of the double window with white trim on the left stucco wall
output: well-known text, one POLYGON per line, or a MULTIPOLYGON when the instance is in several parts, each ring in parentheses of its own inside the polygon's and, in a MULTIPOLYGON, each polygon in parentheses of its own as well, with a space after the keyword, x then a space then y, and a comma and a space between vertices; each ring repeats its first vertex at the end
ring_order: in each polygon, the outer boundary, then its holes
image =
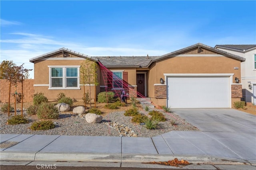
POLYGON ((80 66, 48 66, 50 72, 49 89, 80 89, 80 66))

